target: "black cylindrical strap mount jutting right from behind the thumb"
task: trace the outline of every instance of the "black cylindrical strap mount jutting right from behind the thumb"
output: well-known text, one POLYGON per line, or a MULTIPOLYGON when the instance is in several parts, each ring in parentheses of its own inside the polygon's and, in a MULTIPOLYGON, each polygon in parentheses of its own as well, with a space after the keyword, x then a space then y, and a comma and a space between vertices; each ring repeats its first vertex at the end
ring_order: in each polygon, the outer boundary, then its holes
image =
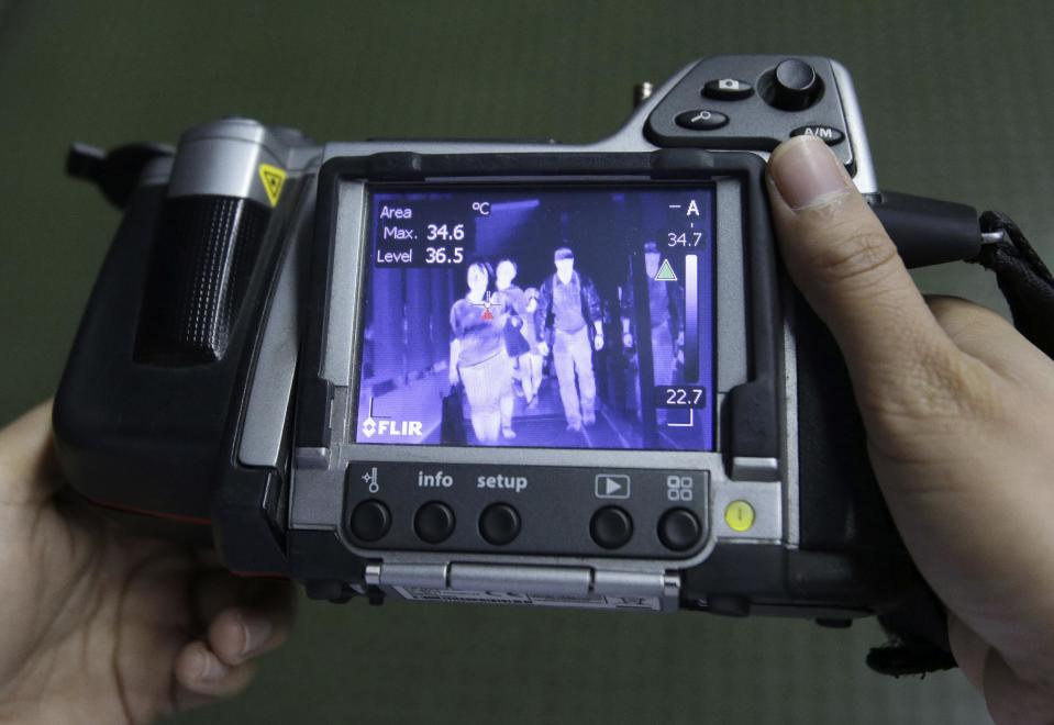
POLYGON ((909 268, 969 259, 980 252, 973 207, 894 191, 868 194, 867 202, 909 268))

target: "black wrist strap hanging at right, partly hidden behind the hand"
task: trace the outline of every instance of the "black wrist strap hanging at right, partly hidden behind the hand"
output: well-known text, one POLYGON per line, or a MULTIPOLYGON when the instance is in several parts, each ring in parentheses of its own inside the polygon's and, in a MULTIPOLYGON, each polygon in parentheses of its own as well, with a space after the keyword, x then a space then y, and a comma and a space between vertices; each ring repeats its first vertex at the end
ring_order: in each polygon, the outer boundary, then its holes
MULTIPOLYGON (((985 212, 980 230, 985 245, 966 261, 996 274, 1013 326, 1054 358, 1054 276, 1006 214, 985 212)), ((899 677, 956 667, 944 605, 924 582, 896 610, 880 614, 878 622, 889 640, 867 655, 867 666, 876 672, 899 677)))

